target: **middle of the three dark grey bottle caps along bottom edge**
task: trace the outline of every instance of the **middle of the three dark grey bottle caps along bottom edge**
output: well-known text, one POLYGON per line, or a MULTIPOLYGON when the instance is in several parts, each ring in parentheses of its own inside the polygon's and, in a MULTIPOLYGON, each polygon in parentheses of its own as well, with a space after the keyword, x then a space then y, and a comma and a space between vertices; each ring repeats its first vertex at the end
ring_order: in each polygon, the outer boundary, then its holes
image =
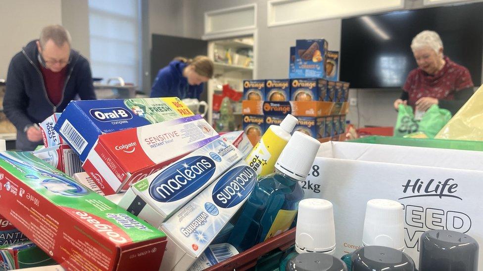
POLYGON ((406 253, 385 246, 365 246, 352 253, 352 271, 414 271, 406 253))

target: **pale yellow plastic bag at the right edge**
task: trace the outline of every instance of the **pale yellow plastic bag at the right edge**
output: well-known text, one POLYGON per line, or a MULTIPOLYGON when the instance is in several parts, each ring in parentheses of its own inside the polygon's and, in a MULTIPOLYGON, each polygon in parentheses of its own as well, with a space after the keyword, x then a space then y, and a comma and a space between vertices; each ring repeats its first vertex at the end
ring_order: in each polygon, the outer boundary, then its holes
POLYGON ((483 141, 483 85, 444 125, 435 138, 483 141))

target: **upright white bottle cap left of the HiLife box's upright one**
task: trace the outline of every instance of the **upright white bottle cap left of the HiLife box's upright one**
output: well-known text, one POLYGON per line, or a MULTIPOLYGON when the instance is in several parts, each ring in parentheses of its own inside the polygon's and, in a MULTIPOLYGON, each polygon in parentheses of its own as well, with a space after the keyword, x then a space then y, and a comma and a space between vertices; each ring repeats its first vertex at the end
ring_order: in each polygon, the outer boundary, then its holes
POLYGON ((325 252, 331 254, 336 248, 334 211, 329 200, 306 198, 298 203, 295 250, 325 252))

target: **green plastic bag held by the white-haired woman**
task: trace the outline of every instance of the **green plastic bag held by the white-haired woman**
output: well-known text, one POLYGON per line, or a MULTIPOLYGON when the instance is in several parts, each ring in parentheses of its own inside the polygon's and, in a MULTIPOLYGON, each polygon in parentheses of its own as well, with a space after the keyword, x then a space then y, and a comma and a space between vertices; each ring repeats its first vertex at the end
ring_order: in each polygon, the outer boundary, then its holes
POLYGON ((429 138, 434 138, 449 119, 451 119, 451 113, 446 109, 440 109, 437 105, 432 105, 421 120, 414 119, 413 108, 400 104, 394 136, 403 137, 410 133, 423 132, 429 138))

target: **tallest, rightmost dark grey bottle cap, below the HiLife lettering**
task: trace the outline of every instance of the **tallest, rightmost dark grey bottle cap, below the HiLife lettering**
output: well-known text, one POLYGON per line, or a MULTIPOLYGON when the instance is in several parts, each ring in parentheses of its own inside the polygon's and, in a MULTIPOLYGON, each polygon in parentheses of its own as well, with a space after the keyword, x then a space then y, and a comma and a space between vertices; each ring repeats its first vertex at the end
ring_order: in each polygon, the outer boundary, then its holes
POLYGON ((461 232, 425 232, 420 239, 419 270, 477 271, 478 242, 461 232))

